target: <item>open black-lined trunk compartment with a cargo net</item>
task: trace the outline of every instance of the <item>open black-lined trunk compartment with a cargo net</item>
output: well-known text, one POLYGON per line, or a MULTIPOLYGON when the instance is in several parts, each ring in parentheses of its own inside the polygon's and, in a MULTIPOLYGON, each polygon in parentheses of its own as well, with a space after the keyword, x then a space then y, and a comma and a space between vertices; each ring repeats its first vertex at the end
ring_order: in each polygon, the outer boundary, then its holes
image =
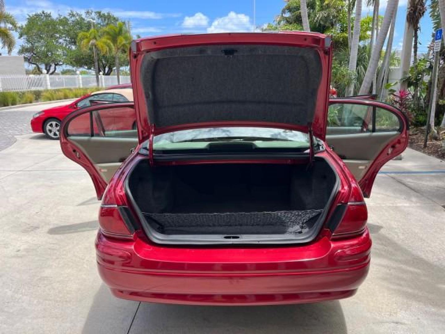
POLYGON ((150 166, 127 179, 147 235, 170 244, 302 243, 318 234, 338 180, 320 158, 307 164, 150 166))

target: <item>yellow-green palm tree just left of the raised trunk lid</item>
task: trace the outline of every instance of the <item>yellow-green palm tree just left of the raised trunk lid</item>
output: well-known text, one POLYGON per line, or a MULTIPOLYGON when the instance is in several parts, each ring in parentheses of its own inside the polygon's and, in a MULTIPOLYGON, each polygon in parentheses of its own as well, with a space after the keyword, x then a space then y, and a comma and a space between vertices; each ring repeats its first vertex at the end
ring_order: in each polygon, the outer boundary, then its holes
POLYGON ((119 55, 122 51, 128 51, 131 43, 131 35, 124 22, 117 22, 116 25, 109 24, 104 29, 104 38, 110 42, 110 50, 114 53, 114 63, 116 65, 117 84, 121 83, 119 55))

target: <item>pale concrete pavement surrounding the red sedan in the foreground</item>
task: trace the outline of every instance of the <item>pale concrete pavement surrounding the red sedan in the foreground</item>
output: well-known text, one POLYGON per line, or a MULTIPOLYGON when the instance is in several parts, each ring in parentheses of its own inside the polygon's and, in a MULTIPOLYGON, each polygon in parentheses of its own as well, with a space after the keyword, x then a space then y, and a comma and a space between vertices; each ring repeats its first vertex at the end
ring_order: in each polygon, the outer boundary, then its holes
POLYGON ((114 298, 96 271, 93 185, 44 135, 0 151, 0 194, 0 333, 445 332, 445 163, 416 151, 388 163, 367 200, 368 279, 354 297, 307 305, 114 298))

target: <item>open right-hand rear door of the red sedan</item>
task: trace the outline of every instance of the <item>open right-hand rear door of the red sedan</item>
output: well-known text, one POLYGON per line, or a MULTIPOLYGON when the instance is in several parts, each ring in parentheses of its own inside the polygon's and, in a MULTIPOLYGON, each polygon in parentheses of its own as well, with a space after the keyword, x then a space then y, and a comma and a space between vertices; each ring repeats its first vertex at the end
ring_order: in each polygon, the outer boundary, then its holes
POLYGON ((343 159, 365 197, 380 168, 408 145, 405 115, 383 102, 358 98, 331 99, 326 141, 343 159))

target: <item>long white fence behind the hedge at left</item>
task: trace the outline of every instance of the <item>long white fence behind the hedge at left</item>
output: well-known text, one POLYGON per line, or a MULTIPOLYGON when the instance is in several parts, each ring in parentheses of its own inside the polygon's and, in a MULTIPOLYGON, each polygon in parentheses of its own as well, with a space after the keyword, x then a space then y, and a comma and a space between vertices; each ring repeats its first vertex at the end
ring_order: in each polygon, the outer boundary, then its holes
MULTIPOLYGON (((129 76, 121 76, 121 84, 130 83, 129 76)), ((117 85, 116 76, 99 75, 99 86, 117 85)), ((57 88, 96 87, 94 75, 0 75, 0 91, 48 90, 57 88)))

